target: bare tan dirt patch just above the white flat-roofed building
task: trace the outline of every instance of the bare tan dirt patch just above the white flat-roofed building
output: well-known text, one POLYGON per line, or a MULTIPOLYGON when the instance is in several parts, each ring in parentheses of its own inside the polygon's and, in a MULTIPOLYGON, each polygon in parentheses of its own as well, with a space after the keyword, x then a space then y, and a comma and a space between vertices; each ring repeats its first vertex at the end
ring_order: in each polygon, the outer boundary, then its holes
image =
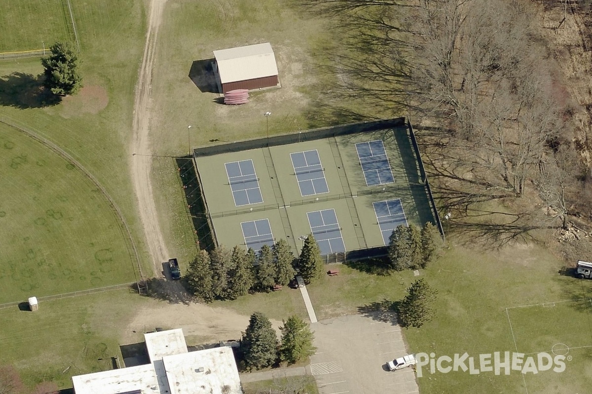
MULTIPOLYGON (((281 321, 272 320, 276 331, 281 321)), ((139 334, 153 331, 156 327, 165 330, 182 328, 192 346, 217 343, 221 340, 238 339, 249 325, 249 316, 204 304, 159 304, 149 305, 136 314, 122 335, 122 343, 133 343, 139 334), (134 332, 135 331, 135 332, 134 332)))

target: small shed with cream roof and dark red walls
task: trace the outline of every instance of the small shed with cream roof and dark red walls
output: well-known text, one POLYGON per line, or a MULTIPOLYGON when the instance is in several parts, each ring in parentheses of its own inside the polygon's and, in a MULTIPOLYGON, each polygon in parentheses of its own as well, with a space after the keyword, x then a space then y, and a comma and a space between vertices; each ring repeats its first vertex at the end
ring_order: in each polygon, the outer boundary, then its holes
POLYGON ((222 93, 279 84, 278 66, 269 43, 217 50, 214 57, 222 93))

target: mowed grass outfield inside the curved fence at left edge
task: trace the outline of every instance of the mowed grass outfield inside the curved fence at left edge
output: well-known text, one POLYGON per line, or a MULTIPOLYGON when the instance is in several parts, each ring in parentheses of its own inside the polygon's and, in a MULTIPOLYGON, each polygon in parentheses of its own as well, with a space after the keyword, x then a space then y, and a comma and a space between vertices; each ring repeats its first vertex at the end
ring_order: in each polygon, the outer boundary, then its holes
POLYGON ((120 222, 82 171, 0 123, 0 304, 132 282, 120 222))

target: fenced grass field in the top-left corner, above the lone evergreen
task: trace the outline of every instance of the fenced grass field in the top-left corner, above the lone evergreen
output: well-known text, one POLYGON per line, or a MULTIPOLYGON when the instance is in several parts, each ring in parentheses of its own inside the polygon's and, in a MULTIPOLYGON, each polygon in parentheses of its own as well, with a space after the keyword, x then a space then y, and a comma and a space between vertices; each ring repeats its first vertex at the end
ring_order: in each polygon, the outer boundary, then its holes
POLYGON ((0 52, 48 48, 57 40, 75 41, 66 0, 4 0, 0 13, 0 52))

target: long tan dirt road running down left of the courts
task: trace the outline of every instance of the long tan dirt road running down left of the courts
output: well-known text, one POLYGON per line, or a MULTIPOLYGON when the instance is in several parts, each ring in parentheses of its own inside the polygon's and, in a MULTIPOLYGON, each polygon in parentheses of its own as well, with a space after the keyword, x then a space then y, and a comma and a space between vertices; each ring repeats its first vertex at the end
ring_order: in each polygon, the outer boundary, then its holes
POLYGON ((152 90, 152 67, 155 60, 156 38, 166 0, 150 1, 150 17, 144 56, 136 85, 134 100, 134 123, 131 140, 131 177, 138 200, 141 223, 146 235, 146 243, 153 261, 155 275, 160 275, 163 261, 168 259, 165 239, 160 232, 156 205, 152 194, 152 146, 149 140, 150 130, 150 92, 152 90))

